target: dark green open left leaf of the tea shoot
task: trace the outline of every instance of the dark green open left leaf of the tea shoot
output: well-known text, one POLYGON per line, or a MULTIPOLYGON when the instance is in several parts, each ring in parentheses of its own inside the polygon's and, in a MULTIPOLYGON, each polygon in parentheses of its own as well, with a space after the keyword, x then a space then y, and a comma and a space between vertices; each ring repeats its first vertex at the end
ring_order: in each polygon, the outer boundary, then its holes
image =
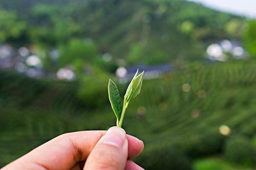
POLYGON ((112 80, 109 81, 108 92, 109 92, 111 107, 116 115, 117 123, 118 123, 121 117, 122 103, 121 103, 121 98, 120 98, 118 88, 112 80))

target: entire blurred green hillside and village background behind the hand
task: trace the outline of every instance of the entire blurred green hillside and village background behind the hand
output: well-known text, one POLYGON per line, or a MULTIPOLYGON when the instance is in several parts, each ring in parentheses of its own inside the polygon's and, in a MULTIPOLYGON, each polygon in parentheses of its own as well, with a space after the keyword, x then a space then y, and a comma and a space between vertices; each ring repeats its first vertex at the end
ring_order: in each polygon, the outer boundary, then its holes
POLYGON ((108 80, 140 95, 123 128, 145 169, 256 169, 256 2, 1 0, 0 167, 115 125, 108 80))

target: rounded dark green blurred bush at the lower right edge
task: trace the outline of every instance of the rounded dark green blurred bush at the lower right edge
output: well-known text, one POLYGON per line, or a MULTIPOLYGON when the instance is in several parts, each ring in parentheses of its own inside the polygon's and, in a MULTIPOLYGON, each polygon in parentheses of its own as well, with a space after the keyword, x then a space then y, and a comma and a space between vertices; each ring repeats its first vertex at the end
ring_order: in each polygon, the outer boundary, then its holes
POLYGON ((251 165, 255 161, 255 153, 251 141, 244 136, 234 136, 227 140, 225 157, 237 164, 251 165))

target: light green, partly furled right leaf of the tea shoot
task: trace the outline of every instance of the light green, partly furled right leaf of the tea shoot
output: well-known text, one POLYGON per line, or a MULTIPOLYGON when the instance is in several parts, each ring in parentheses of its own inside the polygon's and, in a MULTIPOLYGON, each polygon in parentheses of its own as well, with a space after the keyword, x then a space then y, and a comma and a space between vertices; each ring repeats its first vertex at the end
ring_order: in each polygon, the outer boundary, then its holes
MULTIPOLYGON (((132 80, 130 89, 126 90, 125 105, 128 105, 139 93, 142 86, 144 71, 132 80)), ((130 86, 130 85, 129 85, 130 86)))

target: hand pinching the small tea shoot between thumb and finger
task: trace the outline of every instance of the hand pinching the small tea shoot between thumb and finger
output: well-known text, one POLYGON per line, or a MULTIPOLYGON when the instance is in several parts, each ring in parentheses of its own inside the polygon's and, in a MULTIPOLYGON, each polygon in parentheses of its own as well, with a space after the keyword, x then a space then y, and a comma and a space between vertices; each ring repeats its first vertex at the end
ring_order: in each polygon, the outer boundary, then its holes
POLYGON ((7 169, 143 169, 131 158, 143 142, 118 127, 60 135, 3 167, 7 169))

